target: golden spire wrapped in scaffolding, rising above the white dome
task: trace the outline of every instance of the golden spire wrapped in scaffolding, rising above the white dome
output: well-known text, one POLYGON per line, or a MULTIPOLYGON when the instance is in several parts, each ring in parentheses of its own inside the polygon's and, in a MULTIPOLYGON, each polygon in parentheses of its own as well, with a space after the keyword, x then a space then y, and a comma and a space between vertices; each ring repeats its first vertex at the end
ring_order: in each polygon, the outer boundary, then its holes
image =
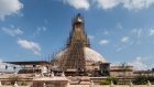
POLYGON ((89 47, 89 41, 85 33, 85 21, 80 13, 73 19, 72 32, 69 34, 67 46, 70 46, 76 42, 80 42, 84 46, 89 47))

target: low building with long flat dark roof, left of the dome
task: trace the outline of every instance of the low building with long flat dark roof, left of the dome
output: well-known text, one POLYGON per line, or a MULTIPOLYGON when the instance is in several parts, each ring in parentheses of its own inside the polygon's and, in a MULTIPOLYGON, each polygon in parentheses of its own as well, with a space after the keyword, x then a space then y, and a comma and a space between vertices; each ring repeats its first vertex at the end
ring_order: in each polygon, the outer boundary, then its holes
POLYGON ((51 63, 46 61, 31 61, 31 62, 4 62, 6 64, 6 69, 8 68, 13 68, 14 72, 15 69, 19 69, 19 74, 33 74, 33 73, 41 73, 44 72, 44 69, 50 69, 51 63), (13 65, 9 65, 13 64, 13 65))

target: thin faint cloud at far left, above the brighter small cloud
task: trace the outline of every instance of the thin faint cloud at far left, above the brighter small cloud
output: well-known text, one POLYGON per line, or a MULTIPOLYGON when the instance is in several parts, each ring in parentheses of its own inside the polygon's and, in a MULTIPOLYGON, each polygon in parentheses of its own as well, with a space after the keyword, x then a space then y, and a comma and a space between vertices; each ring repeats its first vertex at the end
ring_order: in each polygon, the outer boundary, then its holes
POLYGON ((2 28, 1 30, 11 36, 23 34, 23 31, 20 28, 15 28, 13 25, 11 25, 10 28, 2 28))

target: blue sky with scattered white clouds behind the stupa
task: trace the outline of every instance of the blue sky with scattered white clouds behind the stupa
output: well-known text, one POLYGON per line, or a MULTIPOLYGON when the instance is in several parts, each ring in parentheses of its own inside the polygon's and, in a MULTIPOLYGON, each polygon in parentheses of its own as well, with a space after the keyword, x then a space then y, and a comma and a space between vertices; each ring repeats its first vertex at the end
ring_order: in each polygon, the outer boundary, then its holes
POLYGON ((154 67, 154 0, 0 0, 0 59, 48 59, 65 46, 77 13, 107 62, 154 67))

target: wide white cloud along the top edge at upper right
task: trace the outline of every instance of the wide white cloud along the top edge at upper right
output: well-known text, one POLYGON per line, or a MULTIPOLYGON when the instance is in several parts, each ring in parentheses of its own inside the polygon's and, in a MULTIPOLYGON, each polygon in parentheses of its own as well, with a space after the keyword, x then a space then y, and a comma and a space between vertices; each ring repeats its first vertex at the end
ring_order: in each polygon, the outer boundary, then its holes
POLYGON ((146 9, 154 4, 154 0, 96 0, 98 7, 108 10, 122 6, 128 10, 146 9))

